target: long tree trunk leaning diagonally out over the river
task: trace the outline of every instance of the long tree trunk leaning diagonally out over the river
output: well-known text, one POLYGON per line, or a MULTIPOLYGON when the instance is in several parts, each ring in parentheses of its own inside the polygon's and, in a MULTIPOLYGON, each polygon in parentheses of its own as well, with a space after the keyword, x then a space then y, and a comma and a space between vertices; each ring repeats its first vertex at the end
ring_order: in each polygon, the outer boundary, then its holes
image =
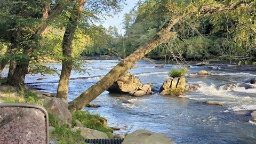
MULTIPOLYGON (((201 16, 209 15, 219 11, 233 10, 234 6, 219 6, 219 7, 203 7, 201 9, 201 16)), ((198 9, 193 10, 197 13, 198 9)), ((118 77, 123 74, 125 71, 131 69, 134 64, 144 57, 147 53, 154 50, 155 47, 164 43, 176 33, 171 33, 170 30, 172 27, 180 20, 186 17, 189 17, 193 12, 183 13, 173 15, 173 18, 165 23, 160 31, 154 36, 154 38, 146 43, 145 45, 140 46, 138 50, 133 52, 131 55, 126 57, 123 61, 119 62, 109 73, 103 77, 98 83, 91 86, 88 90, 79 95, 76 99, 70 102, 69 109, 76 110, 82 109, 84 106, 88 105, 92 100, 98 97, 102 92, 106 91, 108 87, 113 85, 117 81, 118 77)))

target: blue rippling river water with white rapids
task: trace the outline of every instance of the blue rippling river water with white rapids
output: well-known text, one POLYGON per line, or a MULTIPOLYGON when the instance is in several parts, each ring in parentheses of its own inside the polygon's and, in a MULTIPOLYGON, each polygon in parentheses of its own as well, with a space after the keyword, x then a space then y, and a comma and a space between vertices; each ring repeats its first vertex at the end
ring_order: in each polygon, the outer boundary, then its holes
MULTIPOLYGON (((87 63, 89 74, 72 73, 69 84, 68 101, 99 81, 113 68, 118 60, 90 60, 87 63)), ((163 63, 163 61, 156 61, 163 63)), ((61 68, 58 63, 50 66, 61 68)), ((221 65, 215 63, 215 65, 221 65)), ((132 74, 137 75, 142 83, 153 82, 153 88, 159 89, 168 72, 175 65, 156 68, 148 61, 139 61, 132 74)), ((188 84, 199 85, 198 91, 186 92, 183 98, 145 95, 135 98, 124 94, 103 92, 92 103, 100 108, 84 108, 108 119, 110 126, 121 127, 117 134, 131 133, 137 129, 147 129, 164 133, 177 143, 256 143, 256 123, 251 119, 250 111, 256 110, 256 89, 236 89, 234 91, 217 90, 225 83, 242 82, 245 78, 256 77, 256 71, 246 69, 217 69, 211 67, 189 68, 188 84), (207 70, 212 76, 195 76, 199 70, 207 70), (131 104, 122 103, 124 100, 131 104), (220 101, 221 106, 204 105, 204 101, 220 101)), ((37 81, 41 75, 27 75, 26 83, 30 86, 54 93, 57 90, 57 75, 47 75, 37 81)))

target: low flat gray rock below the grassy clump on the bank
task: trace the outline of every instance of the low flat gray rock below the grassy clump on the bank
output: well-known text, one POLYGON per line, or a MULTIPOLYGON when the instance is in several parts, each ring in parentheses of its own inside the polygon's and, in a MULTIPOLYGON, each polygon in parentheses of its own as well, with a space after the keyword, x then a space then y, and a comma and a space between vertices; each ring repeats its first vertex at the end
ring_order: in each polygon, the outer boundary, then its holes
POLYGON ((97 130, 92 130, 86 127, 74 127, 71 129, 71 131, 76 132, 80 130, 81 135, 85 139, 108 139, 108 135, 106 133, 97 131, 97 130))

